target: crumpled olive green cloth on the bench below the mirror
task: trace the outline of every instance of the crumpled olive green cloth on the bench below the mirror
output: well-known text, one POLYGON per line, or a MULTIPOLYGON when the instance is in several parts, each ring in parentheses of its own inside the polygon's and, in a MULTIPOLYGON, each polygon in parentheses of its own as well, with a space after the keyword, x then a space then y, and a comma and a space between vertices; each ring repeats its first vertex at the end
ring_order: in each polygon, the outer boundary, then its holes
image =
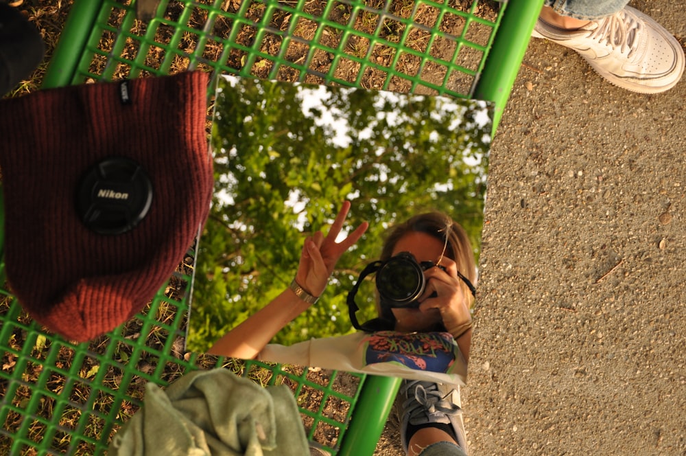
POLYGON ((309 454, 292 391, 263 388, 227 369, 196 371, 166 391, 145 385, 143 407, 110 442, 116 456, 309 454))

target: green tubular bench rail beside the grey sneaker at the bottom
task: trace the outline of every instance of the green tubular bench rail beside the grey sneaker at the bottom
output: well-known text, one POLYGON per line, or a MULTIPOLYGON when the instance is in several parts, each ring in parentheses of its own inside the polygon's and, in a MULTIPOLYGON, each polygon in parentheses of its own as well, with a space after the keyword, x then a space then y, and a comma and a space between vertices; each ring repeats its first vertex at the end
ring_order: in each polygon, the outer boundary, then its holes
POLYGON ((337 456, 374 454, 402 379, 368 375, 337 456))

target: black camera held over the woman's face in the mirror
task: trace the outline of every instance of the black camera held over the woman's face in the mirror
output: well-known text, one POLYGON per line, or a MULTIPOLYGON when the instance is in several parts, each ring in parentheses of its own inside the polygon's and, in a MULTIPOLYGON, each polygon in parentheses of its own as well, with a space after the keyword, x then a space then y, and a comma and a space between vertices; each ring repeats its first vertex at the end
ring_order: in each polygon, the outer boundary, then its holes
MULTIPOLYGON (((434 262, 417 262, 410 252, 401 252, 383 262, 376 273, 376 285, 381 306, 417 308, 417 299, 424 293, 427 279, 424 271, 436 266, 434 262)), ((438 266, 445 271, 444 266, 438 266)), ((434 295, 436 296, 436 293, 434 295)))

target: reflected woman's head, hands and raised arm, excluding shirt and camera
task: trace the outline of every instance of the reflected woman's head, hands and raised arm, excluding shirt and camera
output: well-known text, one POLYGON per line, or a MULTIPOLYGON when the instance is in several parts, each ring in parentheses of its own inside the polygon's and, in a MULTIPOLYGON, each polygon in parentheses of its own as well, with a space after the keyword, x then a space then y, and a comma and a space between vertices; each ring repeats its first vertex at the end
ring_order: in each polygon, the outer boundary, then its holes
MULTIPOLYGON (((345 201, 327 236, 317 231, 305 240, 291 286, 216 341, 210 354, 256 358, 277 332, 316 303, 336 262, 368 228, 368 223, 362 223, 337 242, 350 209, 351 203, 345 201)), ((440 212, 414 216, 390 231, 380 260, 387 261, 401 252, 410 253, 419 263, 434 265, 424 271, 427 285, 423 293, 414 306, 394 307, 383 299, 377 300, 379 318, 364 323, 362 328, 370 328, 368 332, 447 332, 455 339, 466 363, 471 346, 472 284, 477 273, 464 229, 440 212)))

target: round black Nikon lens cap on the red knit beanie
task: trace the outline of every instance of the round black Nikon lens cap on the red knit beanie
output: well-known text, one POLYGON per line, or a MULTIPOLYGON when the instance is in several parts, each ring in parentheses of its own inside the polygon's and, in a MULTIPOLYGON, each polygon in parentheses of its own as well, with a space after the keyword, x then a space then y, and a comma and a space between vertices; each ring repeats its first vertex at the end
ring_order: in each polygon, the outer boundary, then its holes
POLYGON ((81 179, 76 209, 83 223, 100 234, 123 234, 147 215, 152 183, 132 159, 110 157, 95 164, 81 179))

